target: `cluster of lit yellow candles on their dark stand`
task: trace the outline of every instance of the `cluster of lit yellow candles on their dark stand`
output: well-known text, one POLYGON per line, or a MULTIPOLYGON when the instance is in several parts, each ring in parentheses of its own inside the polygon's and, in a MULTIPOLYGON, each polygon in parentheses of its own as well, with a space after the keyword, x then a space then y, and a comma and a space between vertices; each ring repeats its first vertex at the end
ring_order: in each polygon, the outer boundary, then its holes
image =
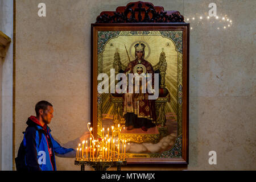
MULTIPOLYGON (((118 137, 113 138, 114 126, 112 126, 112 137, 108 134, 104 137, 104 128, 101 130, 101 138, 94 138, 92 134, 92 127, 89 127, 90 123, 87 124, 88 130, 90 131, 90 141, 86 140, 79 143, 76 151, 75 165, 81 166, 81 171, 85 170, 85 166, 90 166, 95 171, 106 171, 106 169, 116 166, 117 171, 121 171, 121 166, 126 166, 126 140, 119 139, 119 132, 121 128, 118 124, 118 137), (89 146, 88 146, 89 144, 89 146), (122 147, 120 146, 122 144, 122 147), (122 150, 121 150, 122 148, 122 150)), ((129 144, 129 143, 128 143, 129 144)))

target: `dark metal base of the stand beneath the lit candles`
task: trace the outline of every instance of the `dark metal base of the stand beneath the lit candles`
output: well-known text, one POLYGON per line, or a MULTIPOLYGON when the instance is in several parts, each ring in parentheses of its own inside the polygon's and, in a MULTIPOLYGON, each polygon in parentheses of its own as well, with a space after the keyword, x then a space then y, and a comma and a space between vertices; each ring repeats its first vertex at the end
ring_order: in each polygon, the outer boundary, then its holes
POLYGON ((117 167, 117 171, 121 171, 121 166, 126 166, 127 161, 85 161, 85 160, 75 160, 75 165, 81 166, 81 171, 85 170, 85 166, 90 166, 94 168, 95 171, 106 171, 110 167, 117 167))

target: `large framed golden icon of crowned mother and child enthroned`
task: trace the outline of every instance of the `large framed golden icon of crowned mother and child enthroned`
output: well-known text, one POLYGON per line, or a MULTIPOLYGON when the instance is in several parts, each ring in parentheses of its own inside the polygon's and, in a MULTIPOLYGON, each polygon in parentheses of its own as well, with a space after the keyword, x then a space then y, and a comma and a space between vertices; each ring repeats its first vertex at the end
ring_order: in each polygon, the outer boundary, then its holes
POLYGON ((92 24, 93 131, 125 141, 128 164, 188 164, 188 53, 178 11, 134 2, 92 24))

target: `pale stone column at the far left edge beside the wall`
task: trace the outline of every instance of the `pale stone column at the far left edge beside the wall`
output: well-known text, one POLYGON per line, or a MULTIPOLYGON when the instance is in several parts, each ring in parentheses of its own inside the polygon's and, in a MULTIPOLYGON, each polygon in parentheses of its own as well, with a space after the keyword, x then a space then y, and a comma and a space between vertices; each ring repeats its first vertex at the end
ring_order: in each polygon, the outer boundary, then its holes
POLYGON ((13 0, 0 0, 0 170, 13 170, 13 0))

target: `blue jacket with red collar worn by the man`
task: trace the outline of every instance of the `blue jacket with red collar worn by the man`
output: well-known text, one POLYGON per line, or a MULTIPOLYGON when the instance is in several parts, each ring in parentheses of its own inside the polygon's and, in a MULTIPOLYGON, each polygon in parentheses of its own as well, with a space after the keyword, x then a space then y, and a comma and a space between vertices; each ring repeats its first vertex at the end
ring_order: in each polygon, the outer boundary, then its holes
POLYGON ((40 125, 36 117, 29 117, 27 125, 23 144, 26 151, 25 162, 28 170, 56 171, 55 152, 57 154, 66 154, 74 149, 61 147, 53 139, 49 127, 40 125))

